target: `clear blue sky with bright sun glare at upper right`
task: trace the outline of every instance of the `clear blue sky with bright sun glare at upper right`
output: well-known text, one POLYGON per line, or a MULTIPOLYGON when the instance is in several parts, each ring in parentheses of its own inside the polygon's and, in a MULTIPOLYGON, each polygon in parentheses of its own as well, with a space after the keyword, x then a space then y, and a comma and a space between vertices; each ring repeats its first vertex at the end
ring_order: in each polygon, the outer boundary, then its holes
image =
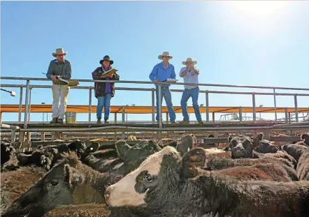
MULTIPOLYGON (((176 75, 181 62, 192 57, 198 61, 199 81, 203 83, 308 88, 308 11, 309 1, 1 1, 1 76, 43 77, 53 58, 51 53, 56 47, 64 47, 75 79, 92 79, 99 60, 108 54, 119 69, 121 80, 148 81, 152 67, 159 63, 158 54, 169 51, 174 57, 171 63, 176 75)), ((19 94, 19 89, 13 90, 19 94)), ((71 90, 69 104, 87 105, 88 95, 85 90, 71 90)), ((180 105, 180 98, 181 93, 173 93, 173 105, 180 105)), ((256 99, 257 105, 273 106, 272 96, 256 99)), ((19 97, 1 92, 1 104, 18 102, 19 97)), ((41 102, 52 103, 51 90, 32 91, 31 103, 41 102)), ((200 95, 199 103, 205 105, 204 95, 200 95)), ((209 103, 252 106, 252 98, 213 94, 209 103)), ((117 91, 112 105, 126 104, 151 105, 151 93, 117 91)), ((94 97, 92 105, 96 105, 94 97)), ((191 100, 188 105, 192 105, 191 100)), ((277 105, 292 107, 294 98, 280 96, 277 105)), ((308 106, 309 97, 299 97, 299 107, 308 106)), ((78 114, 78 121, 87 121, 87 117, 88 114, 78 114)), ((177 118, 182 119, 182 115, 177 118)), ((195 120, 193 114, 190 118, 195 120)), ((31 115, 31 121, 41 119, 42 114, 31 115)), ((151 115, 129 114, 128 119, 150 120, 151 115)), ((17 121, 17 114, 3 114, 3 121, 17 121)))

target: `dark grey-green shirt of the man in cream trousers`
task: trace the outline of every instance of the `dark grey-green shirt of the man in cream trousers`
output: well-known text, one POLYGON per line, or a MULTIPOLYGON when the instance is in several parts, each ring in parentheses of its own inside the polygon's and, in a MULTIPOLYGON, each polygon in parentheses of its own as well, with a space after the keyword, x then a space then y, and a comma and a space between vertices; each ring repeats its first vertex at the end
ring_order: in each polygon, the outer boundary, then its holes
MULTIPOLYGON (((69 60, 64 59, 62 63, 59 63, 58 59, 53 59, 50 61, 50 66, 48 66, 48 73, 46 77, 48 79, 52 79, 55 75, 60 75, 64 80, 69 80, 71 79, 71 63, 69 60)), ((54 84, 66 84, 65 82, 62 81, 56 81, 52 82, 54 84)))

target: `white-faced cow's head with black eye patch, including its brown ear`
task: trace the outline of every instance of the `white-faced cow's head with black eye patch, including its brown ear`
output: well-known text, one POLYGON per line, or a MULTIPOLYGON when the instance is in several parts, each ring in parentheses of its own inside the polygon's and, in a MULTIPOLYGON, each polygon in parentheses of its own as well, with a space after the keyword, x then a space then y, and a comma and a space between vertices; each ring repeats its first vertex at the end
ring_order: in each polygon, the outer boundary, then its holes
MULTIPOLYGON (((173 147, 164 147, 161 151, 149 156, 136 170, 116 184, 106 188, 106 203, 111 207, 166 207, 173 200, 182 200, 180 192, 185 189, 184 183, 199 174, 198 167, 206 162, 206 151, 194 148, 184 156, 173 147), (175 198, 174 198, 175 197, 175 198)), ((185 200, 190 200, 187 195, 185 200)))

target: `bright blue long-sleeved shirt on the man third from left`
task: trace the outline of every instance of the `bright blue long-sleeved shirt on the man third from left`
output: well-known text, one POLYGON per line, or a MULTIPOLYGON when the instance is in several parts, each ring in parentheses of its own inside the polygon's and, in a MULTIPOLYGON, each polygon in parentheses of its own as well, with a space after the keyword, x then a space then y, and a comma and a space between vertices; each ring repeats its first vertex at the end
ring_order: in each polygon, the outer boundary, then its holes
MULTIPOLYGON (((175 68, 171 63, 168 63, 168 66, 165 67, 162 61, 161 63, 157 63, 157 65, 155 65, 155 67, 152 69, 152 72, 149 75, 149 78, 152 82, 155 82, 155 80, 163 82, 168 78, 175 79, 176 78, 175 68)), ((162 87, 170 85, 171 84, 162 84, 162 87)))

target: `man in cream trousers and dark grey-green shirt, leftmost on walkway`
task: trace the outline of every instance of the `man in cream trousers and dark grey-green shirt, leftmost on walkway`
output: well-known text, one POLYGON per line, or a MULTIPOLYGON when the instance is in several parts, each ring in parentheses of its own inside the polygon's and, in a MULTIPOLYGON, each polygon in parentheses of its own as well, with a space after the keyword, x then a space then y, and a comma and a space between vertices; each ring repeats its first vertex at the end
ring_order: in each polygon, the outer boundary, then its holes
POLYGON ((66 113, 66 104, 68 102, 68 94, 70 87, 65 82, 58 80, 62 77, 64 80, 71 79, 71 63, 64 59, 66 52, 63 48, 57 48, 52 53, 53 59, 50 61, 48 73, 46 77, 52 80, 52 121, 50 124, 64 124, 64 114, 66 113), (60 103, 60 105, 59 105, 60 103))

